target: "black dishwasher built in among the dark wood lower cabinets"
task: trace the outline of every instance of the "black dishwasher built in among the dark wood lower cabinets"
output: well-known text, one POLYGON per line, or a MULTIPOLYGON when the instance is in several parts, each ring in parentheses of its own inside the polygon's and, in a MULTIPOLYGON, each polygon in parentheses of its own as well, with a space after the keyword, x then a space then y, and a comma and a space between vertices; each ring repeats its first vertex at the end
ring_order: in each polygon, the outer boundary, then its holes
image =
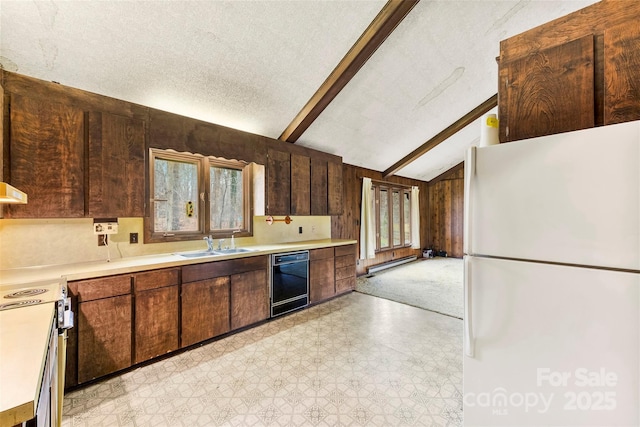
POLYGON ((271 317, 309 305, 309 251, 271 255, 271 317))

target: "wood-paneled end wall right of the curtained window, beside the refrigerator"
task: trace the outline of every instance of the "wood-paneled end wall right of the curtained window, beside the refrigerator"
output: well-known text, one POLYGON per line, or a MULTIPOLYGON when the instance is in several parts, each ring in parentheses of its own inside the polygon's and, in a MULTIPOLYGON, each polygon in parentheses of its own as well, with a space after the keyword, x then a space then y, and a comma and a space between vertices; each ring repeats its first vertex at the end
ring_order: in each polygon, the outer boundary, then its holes
POLYGON ((464 212, 464 164, 429 181, 429 234, 426 245, 461 258, 464 212))

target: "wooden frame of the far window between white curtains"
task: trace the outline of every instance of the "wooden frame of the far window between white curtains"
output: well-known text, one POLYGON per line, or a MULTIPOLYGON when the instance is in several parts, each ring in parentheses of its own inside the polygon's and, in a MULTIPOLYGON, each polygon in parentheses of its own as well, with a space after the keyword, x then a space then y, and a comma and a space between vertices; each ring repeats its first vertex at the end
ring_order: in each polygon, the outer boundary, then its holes
POLYGON ((374 221, 375 221, 375 230, 376 230, 376 253, 392 251, 400 248, 411 247, 411 189, 407 188, 403 185, 394 185, 393 183, 377 183, 373 182, 371 184, 371 189, 374 193, 374 221), (388 195, 388 203, 387 203, 387 215, 389 218, 387 225, 387 233, 389 238, 389 246, 381 247, 380 246, 380 236, 381 236, 381 203, 380 203, 380 192, 381 190, 387 191, 388 195), (393 236, 393 194, 398 193, 400 196, 400 244, 394 245, 394 236, 393 236), (408 204, 409 204, 409 218, 405 218, 405 194, 408 194, 408 204), (409 226, 409 239, 405 239, 405 226, 409 226))

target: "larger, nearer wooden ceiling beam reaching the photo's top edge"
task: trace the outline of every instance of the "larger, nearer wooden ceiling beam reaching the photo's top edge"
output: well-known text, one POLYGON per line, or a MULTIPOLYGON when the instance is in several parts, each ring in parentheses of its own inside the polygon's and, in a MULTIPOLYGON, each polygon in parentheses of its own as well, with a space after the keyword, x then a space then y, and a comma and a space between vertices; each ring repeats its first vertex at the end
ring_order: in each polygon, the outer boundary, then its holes
POLYGON ((296 142, 419 0, 389 0, 278 139, 296 142))

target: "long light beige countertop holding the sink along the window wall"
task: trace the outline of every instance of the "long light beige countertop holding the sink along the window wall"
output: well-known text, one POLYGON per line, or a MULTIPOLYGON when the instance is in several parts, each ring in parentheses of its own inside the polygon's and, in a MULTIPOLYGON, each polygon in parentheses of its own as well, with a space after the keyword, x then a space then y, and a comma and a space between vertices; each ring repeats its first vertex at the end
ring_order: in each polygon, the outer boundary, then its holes
MULTIPOLYGON (((251 252, 227 255, 211 255, 198 258, 185 258, 175 253, 145 255, 129 258, 116 258, 110 262, 93 261, 76 264, 47 265, 37 267, 0 270, 0 287, 6 285, 28 284, 44 280, 59 279, 66 276, 68 281, 91 279, 114 274, 128 274, 157 268, 179 267, 182 265, 200 264, 203 262, 222 261, 227 259, 246 258, 257 255, 268 255, 297 250, 328 248, 332 246, 351 245, 355 240, 322 239, 294 243, 273 243, 255 246, 243 246, 251 252)), ((200 252, 200 251, 190 251, 200 252)))

